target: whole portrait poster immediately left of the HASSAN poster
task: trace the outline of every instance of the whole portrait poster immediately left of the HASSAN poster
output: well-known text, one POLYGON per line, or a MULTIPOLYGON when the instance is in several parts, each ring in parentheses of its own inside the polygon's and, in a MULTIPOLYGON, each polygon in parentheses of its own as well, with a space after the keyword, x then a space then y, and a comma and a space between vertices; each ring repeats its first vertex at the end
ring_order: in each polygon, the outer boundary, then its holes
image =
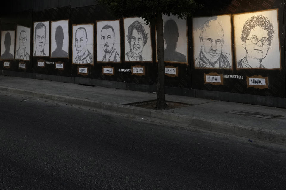
POLYGON ((93 24, 72 26, 73 64, 93 64, 93 24))

